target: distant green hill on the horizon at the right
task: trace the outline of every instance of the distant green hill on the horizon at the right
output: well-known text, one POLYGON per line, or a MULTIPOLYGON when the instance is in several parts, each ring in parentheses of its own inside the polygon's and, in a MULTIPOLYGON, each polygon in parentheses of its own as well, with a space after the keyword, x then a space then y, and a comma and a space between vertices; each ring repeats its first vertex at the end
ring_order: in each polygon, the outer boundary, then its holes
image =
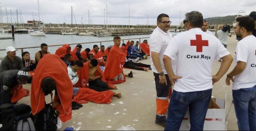
POLYGON ((237 17, 237 15, 228 15, 225 17, 211 17, 211 18, 204 18, 204 19, 208 20, 209 25, 228 24, 230 26, 233 26, 235 17, 237 17))

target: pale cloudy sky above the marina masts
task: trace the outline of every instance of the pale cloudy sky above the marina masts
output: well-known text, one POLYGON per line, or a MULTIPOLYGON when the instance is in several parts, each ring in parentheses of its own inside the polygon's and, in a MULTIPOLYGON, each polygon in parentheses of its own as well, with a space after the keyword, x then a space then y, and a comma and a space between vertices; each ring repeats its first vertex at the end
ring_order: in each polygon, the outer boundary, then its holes
MULTIPOLYGON (((239 10, 245 10, 247 15, 256 11, 256 0, 39 0, 39 5, 41 21, 60 24, 71 24, 71 6, 74 11, 73 24, 88 24, 89 10, 92 24, 104 24, 104 11, 105 17, 107 12, 105 24, 108 21, 108 25, 156 25, 160 13, 168 14, 171 24, 178 25, 185 13, 192 10, 201 12, 204 18, 237 15, 239 10)), ((17 21, 16 10, 21 12, 25 23, 33 20, 33 17, 38 20, 37 0, 0 0, 0 6, 3 22, 7 22, 5 8, 8 21, 10 10, 13 22, 14 19, 17 21)))

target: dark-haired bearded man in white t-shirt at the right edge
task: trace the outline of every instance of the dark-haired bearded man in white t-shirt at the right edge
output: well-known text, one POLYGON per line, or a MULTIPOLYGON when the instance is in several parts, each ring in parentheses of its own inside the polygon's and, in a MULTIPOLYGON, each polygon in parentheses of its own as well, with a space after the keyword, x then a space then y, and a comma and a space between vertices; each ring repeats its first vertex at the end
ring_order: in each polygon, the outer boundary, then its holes
POLYGON ((256 38, 254 19, 236 18, 235 33, 242 38, 235 50, 235 67, 227 74, 226 84, 233 81, 232 96, 239 131, 256 130, 256 38), (234 78, 233 78, 234 77, 234 78))

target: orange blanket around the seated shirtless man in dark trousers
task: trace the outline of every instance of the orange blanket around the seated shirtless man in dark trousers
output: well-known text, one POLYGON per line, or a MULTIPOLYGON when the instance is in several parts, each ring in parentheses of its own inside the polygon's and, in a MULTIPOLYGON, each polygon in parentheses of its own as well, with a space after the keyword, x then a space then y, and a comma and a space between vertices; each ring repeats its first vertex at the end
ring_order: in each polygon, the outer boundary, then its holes
MULTIPOLYGON (((104 73, 101 71, 99 65, 97 65, 98 70, 95 71, 95 76, 101 75, 101 80, 104 82, 107 82, 104 76, 104 73)), ((77 72, 79 76, 79 80, 76 84, 74 84, 74 87, 85 87, 88 88, 89 82, 88 82, 88 77, 89 77, 89 61, 83 63, 83 67, 77 72)), ((113 88, 113 84, 109 84, 109 87, 113 88)))

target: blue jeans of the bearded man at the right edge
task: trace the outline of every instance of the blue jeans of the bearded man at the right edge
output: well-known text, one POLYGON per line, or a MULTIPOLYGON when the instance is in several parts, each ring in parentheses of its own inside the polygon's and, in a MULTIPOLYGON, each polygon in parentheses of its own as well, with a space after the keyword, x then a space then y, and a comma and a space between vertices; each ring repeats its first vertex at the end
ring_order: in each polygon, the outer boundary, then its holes
POLYGON ((239 131, 256 130, 256 85, 251 88, 232 90, 239 131))

